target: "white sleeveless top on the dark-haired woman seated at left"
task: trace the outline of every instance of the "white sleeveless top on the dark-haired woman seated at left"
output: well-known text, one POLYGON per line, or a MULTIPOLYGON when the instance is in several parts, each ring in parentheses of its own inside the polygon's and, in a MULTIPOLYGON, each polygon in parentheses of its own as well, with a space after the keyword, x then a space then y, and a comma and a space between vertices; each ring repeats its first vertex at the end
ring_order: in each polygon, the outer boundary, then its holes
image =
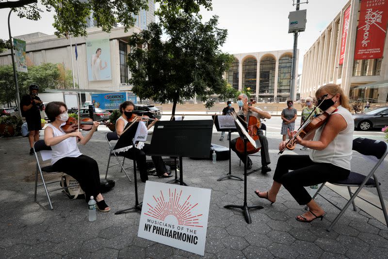
MULTIPOLYGON (((52 124, 48 124, 48 126, 52 128, 54 137, 66 134, 62 129, 59 130, 52 124)), ((82 155, 78 149, 76 137, 66 138, 58 144, 51 146, 51 149, 51 165, 55 164, 55 162, 64 157, 78 157, 82 155)))

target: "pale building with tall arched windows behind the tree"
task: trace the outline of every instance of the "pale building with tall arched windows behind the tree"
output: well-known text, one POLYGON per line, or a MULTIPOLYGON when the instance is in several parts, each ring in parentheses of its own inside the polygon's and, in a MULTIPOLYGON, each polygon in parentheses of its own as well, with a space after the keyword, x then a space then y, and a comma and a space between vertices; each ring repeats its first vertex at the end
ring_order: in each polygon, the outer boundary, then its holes
MULTIPOLYGON (((290 99, 292 50, 233 55, 235 60, 226 72, 226 81, 232 87, 239 91, 249 87, 251 96, 257 102, 285 102, 290 99)), ((298 56, 299 50, 296 64, 298 56)), ((295 98, 296 91, 291 99, 295 98)))

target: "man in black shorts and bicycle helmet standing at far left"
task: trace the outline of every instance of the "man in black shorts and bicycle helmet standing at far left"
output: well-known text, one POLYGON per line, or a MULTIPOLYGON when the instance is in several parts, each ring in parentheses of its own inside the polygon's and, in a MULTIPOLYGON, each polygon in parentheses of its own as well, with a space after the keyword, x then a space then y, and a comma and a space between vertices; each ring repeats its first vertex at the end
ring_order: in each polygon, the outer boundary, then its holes
POLYGON ((39 140, 39 130, 42 129, 40 111, 43 110, 43 102, 38 97, 39 86, 31 84, 30 94, 24 95, 20 101, 21 113, 26 118, 28 139, 30 140, 30 155, 33 155, 33 143, 39 140))

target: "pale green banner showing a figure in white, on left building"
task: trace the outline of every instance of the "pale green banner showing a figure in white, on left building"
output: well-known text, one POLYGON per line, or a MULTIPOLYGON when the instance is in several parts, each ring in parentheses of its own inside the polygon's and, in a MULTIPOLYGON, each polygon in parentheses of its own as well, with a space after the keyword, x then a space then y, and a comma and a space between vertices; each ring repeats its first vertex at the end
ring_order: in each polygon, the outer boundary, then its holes
POLYGON ((111 80, 111 47, 109 39, 86 41, 89 81, 111 80))

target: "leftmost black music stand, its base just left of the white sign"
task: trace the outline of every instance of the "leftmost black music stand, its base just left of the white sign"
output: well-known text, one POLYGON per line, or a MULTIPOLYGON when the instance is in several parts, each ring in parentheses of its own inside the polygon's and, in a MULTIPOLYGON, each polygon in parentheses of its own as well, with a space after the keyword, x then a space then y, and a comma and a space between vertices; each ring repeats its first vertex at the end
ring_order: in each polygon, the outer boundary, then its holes
MULTIPOLYGON (((130 125, 130 123, 127 123, 127 126, 125 127, 125 129, 127 129, 129 127, 129 125, 130 125)), ((135 143, 133 141, 133 138, 136 134, 136 130, 137 130, 138 125, 139 125, 138 121, 134 122, 134 124, 120 136, 116 145, 114 146, 114 149, 119 149, 119 148, 128 147, 129 146, 128 143, 132 143, 133 177, 134 177, 134 182, 135 182, 135 206, 117 210, 117 212, 114 213, 115 215, 127 212, 127 211, 132 210, 132 209, 137 210, 137 211, 142 211, 142 203, 143 202, 139 203, 139 197, 137 194, 136 152, 135 152, 135 143)))

